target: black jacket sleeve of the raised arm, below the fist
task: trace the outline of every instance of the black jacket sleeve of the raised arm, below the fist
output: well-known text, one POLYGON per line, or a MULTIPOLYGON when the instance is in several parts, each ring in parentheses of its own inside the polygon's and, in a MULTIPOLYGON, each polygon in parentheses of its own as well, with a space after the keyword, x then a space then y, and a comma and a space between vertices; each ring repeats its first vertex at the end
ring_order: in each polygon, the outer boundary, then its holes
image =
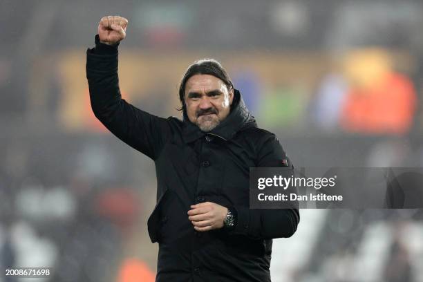
POLYGON ((118 45, 100 43, 86 52, 86 77, 91 109, 109 131, 134 149, 155 160, 171 135, 169 120, 158 118, 135 106, 120 95, 118 45))

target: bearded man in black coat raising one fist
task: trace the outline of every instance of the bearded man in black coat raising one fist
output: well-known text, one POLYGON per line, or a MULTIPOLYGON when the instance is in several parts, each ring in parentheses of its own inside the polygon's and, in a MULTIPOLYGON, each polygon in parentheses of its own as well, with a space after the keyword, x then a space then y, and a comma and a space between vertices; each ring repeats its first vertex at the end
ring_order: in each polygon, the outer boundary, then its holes
POLYGON ((281 145, 257 128, 213 59, 192 64, 182 78, 182 121, 122 100, 118 45, 127 23, 101 19, 86 74, 95 116, 156 164, 157 205, 148 220, 159 243, 156 281, 270 281, 272 238, 292 236, 299 211, 249 209, 249 173, 283 166, 281 145))

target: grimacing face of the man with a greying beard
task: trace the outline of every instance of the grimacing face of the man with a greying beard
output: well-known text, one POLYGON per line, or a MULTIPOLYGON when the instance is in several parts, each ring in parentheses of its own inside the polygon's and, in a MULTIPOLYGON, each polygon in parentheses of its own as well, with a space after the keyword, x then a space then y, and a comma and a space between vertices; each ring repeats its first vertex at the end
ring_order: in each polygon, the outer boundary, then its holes
POLYGON ((193 75, 185 84, 189 120, 201 131, 211 131, 225 120, 234 100, 234 90, 213 75, 193 75))

